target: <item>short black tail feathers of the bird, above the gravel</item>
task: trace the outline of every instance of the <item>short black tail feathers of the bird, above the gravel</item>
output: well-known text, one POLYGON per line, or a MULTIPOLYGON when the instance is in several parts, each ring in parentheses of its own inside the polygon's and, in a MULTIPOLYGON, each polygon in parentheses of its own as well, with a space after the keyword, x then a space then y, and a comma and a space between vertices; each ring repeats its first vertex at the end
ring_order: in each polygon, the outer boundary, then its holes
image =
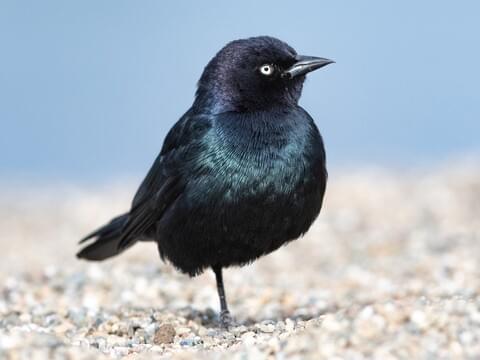
POLYGON ((85 236, 80 240, 80 244, 89 239, 96 239, 93 243, 80 250, 77 253, 77 257, 80 259, 100 261, 120 254, 125 250, 125 248, 119 249, 118 245, 122 239, 122 229, 127 221, 128 213, 117 216, 108 224, 85 236))

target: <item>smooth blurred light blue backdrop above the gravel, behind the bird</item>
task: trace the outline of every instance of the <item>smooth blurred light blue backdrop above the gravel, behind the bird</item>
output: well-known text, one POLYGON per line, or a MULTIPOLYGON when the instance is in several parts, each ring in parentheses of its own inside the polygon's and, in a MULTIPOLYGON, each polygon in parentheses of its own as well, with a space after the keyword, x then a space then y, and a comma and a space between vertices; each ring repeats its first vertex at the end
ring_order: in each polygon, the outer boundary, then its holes
POLYGON ((480 151, 478 1, 0 1, 0 179, 141 177, 230 40, 336 60, 301 104, 330 167, 480 151))

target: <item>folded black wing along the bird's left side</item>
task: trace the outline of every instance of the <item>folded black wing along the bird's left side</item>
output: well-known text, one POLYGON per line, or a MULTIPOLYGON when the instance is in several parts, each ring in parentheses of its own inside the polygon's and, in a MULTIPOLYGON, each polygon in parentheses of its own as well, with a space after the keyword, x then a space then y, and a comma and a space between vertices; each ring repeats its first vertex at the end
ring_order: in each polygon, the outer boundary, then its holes
POLYGON ((189 177, 186 163, 198 156, 198 142, 208 128, 206 124, 203 117, 187 113, 169 131, 132 201, 119 249, 144 236, 182 194, 189 177))

